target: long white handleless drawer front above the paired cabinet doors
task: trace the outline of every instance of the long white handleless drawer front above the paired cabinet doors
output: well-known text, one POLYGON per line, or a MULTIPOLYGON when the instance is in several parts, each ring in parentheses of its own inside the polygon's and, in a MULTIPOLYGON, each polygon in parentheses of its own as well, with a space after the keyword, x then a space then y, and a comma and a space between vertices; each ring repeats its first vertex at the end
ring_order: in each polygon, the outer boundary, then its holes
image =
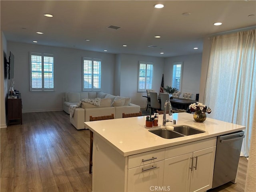
POLYGON ((165 159, 216 146, 216 141, 217 141, 217 138, 213 137, 213 138, 208 138, 204 140, 199 140, 199 141, 185 143, 177 146, 168 147, 165 150, 165 159))

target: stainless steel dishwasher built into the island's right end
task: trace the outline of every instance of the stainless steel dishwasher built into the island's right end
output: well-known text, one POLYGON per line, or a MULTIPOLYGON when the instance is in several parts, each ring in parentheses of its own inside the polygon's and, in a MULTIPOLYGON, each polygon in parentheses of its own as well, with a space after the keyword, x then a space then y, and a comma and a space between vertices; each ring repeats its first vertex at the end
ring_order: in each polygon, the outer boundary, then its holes
POLYGON ((217 137, 212 188, 236 178, 243 138, 243 131, 217 137))

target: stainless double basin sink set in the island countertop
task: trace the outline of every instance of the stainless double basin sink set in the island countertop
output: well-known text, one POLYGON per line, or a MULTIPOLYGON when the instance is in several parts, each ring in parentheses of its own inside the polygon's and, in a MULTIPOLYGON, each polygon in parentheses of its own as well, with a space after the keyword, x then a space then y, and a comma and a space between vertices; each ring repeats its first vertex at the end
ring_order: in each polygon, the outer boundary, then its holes
POLYGON ((175 126, 174 130, 166 130, 166 129, 156 129, 156 130, 148 130, 151 133, 154 133, 162 138, 166 139, 173 139, 188 135, 194 135, 199 133, 204 133, 205 131, 198 130, 196 128, 187 126, 187 125, 180 125, 175 126))

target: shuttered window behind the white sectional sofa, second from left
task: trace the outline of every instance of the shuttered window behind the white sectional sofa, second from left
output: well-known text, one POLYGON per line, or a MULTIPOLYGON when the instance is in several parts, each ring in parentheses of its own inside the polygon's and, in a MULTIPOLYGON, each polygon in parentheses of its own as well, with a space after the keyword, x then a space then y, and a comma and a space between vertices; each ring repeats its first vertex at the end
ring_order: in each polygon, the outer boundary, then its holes
POLYGON ((83 58, 83 91, 101 90, 101 60, 83 58))

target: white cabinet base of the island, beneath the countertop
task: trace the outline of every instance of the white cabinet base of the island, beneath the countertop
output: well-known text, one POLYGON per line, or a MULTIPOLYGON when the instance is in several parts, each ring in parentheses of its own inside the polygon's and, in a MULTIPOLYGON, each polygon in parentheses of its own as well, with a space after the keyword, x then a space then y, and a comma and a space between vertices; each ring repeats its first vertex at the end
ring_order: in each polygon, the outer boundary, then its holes
POLYGON ((96 134, 93 147, 94 192, 199 192, 212 187, 216 138, 122 156, 96 134))

